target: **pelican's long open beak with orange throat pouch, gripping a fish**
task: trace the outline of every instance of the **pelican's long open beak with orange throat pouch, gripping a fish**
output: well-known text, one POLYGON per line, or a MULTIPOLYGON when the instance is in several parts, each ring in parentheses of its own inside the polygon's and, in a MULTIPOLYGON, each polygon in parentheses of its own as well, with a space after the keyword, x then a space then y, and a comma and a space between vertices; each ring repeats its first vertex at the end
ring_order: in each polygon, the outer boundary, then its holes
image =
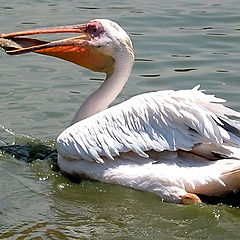
POLYGON ((33 29, 0 35, 0 46, 9 55, 35 52, 58 57, 96 72, 112 71, 114 59, 96 50, 87 24, 33 29), (48 42, 32 39, 28 35, 48 33, 81 33, 82 35, 48 42))

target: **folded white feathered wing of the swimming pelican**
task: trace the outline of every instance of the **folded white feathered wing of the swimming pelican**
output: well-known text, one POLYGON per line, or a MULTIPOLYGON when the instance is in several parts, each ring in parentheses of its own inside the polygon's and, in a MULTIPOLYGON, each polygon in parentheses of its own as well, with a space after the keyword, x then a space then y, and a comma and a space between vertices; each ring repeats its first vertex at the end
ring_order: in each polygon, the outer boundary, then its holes
POLYGON ((204 155, 226 148, 233 157, 231 149, 240 145, 240 122, 227 116, 240 113, 222 102, 198 86, 138 95, 70 126, 58 137, 57 148, 65 158, 97 162, 128 151, 148 157, 149 150, 196 149, 204 155), (197 147, 202 144, 206 146, 197 147))

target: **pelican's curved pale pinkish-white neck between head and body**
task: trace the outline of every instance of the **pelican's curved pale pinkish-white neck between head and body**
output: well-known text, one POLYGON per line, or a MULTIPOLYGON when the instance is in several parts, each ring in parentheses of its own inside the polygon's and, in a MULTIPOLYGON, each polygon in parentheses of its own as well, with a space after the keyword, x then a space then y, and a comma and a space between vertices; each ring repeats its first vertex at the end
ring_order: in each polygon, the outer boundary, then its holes
POLYGON ((133 52, 121 49, 115 57, 114 71, 103 84, 93 92, 76 112, 72 123, 74 124, 108 108, 109 104, 118 96, 129 78, 134 62, 133 52))

